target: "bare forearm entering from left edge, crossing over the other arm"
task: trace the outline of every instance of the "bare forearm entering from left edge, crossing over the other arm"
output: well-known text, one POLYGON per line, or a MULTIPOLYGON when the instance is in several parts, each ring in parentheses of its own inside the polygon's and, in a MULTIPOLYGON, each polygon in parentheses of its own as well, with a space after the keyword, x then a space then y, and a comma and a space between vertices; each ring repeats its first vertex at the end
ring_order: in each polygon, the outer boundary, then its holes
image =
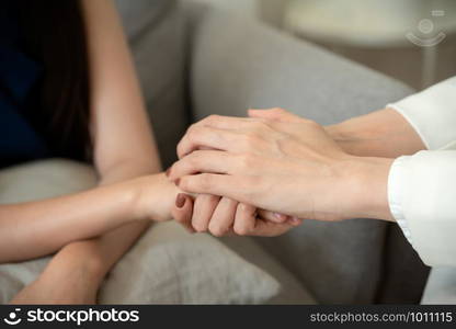
POLYGON ((0 262, 54 252, 135 218, 130 184, 100 186, 78 194, 0 206, 0 262))

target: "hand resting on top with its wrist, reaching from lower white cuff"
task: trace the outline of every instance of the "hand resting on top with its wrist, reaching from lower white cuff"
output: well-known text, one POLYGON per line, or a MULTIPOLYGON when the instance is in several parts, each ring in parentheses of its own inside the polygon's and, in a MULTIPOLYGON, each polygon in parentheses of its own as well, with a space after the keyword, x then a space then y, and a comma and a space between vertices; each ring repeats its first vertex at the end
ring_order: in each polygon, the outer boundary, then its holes
POLYGON ((178 146, 170 179, 185 192, 298 218, 391 219, 386 185, 392 160, 347 155, 322 126, 281 109, 249 114, 193 125, 178 146))

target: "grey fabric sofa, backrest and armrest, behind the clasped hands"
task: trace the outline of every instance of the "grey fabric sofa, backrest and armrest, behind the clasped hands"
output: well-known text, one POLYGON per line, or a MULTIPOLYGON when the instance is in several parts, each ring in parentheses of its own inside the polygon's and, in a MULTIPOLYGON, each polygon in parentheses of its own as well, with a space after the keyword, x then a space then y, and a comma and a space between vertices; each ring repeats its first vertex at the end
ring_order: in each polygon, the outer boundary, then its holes
MULTIPOLYGON (((260 22, 193 1, 117 5, 163 166, 175 159, 187 125, 208 114, 281 106, 331 124, 412 92, 260 22)), ((397 226, 378 220, 308 220, 278 238, 224 241, 260 266, 274 259, 294 276, 283 277, 288 292, 297 282, 323 304, 419 303, 429 271, 397 226)))

